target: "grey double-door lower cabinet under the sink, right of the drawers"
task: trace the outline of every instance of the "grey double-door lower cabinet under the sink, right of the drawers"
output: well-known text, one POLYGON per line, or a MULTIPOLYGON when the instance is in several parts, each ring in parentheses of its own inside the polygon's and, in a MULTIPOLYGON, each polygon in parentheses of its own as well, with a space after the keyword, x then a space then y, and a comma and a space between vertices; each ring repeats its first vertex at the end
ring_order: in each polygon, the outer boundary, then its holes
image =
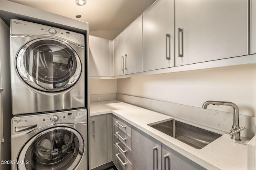
POLYGON ((132 127, 132 170, 206 170, 160 141, 132 127))

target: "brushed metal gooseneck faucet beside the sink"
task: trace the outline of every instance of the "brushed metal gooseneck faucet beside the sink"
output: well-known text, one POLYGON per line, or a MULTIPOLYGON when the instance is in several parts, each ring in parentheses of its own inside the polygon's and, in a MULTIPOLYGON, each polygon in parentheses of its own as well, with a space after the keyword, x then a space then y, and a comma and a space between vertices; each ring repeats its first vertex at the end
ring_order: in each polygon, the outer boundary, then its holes
POLYGON ((220 101, 207 101, 204 102, 203 108, 206 109, 209 104, 212 105, 225 105, 225 106, 231 106, 234 109, 234 115, 233 115, 233 125, 232 128, 229 131, 229 135, 231 136, 231 139, 236 141, 240 140, 240 131, 246 129, 245 127, 239 127, 239 108, 236 104, 231 102, 220 102, 220 101))

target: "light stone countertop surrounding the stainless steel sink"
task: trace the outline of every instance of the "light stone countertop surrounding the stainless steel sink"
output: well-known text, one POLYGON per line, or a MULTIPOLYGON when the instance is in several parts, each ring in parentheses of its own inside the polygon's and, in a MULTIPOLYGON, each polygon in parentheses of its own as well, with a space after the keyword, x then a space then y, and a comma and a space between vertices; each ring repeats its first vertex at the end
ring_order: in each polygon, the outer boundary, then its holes
POLYGON ((195 149, 148 126, 150 123, 172 118, 169 115, 117 100, 90 103, 90 116, 106 113, 113 113, 208 170, 247 170, 246 144, 250 139, 241 137, 242 141, 236 142, 230 139, 230 135, 224 134, 206 147, 195 149))

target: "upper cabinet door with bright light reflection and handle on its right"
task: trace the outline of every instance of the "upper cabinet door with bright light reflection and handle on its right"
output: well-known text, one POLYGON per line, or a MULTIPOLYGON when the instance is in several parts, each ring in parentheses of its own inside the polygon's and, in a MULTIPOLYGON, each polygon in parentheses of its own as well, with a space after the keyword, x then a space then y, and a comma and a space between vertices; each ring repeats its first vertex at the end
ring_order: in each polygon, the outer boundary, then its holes
POLYGON ((174 66, 174 0, 158 0, 143 13, 143 71, 174 66))

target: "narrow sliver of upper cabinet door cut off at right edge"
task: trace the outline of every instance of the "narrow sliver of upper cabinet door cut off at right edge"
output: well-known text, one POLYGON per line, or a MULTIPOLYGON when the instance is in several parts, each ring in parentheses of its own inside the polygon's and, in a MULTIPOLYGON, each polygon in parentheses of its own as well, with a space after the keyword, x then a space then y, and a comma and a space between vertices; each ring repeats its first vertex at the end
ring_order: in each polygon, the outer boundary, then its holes
POLYGON ((251 18, 250 18, 250 35, 251 35, 251 44, 250 44, 250 54, 256 53, 256 0, 251 0, 251 18))

